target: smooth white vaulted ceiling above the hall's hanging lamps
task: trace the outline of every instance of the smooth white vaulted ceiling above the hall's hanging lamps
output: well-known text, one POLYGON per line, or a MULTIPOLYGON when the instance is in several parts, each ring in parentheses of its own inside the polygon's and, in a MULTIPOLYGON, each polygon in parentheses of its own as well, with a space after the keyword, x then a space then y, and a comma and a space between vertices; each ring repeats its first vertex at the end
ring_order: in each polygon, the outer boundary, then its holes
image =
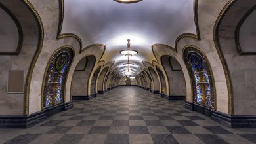
POLYGON ((62 33, 78 35, 83 48, 102 43, 107 46, 102 60, 114 60, 114 67, 127 61, 119 51, 131 48, 139 54, 131 57, 135 67, 142 60, 155 60, 155 43, 175 45, 182 33, 196 33, 193 0, 143 0, 123 4, 113 0, 64 0, 62 33))

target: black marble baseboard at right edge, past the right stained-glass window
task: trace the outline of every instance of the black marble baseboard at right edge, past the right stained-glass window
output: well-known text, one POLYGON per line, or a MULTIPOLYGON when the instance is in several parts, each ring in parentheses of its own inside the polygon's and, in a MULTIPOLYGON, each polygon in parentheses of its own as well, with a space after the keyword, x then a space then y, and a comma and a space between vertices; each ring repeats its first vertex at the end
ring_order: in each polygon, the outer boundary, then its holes
POLYGON ((227 115, 213 111, 211 119, 230 128, 256 128, 255 115, 227 115))

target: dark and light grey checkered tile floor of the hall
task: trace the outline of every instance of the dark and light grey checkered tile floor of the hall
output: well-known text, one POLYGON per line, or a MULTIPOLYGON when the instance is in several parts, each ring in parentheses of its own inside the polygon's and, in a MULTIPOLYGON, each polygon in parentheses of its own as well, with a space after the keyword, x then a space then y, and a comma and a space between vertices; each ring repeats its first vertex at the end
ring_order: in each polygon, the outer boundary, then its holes
POLYGON ((119 87, 28 129, 0 129, 0 143, 256 143, 256 129, 231 129, 137 87, 119 87))

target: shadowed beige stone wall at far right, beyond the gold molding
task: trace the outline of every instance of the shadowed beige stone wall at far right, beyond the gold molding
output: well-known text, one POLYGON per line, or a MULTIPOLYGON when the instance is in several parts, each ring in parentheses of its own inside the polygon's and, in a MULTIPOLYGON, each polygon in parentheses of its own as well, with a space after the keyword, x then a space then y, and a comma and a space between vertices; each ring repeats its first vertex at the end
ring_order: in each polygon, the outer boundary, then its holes
POLYGON ((236 26, 254 5, 253 0, 237 1, 224 14, 218 29, 219 45, 232 82, 234 115, 256 115, 256 56, 238 54, 235 42, 236 26))

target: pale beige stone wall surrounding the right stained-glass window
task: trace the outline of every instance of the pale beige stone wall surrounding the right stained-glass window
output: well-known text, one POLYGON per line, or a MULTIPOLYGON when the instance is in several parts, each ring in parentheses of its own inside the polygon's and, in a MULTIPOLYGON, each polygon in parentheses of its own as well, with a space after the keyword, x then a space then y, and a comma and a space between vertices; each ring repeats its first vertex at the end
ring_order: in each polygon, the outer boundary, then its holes
POLYGON ((177 43, 177 52, 175 52, 175 48, 169 48, 164 45, 154 46, 153 51, 158 62, 160 62, 161 56, 169 55, 173 56, 181 64, 181 68, 186 81, 186 101, 192 102, 192 85, 190 82, 188 69, 186 69, 186 65, 183 61, 182 51, 184 48, 186 48, 186 46, 190 45, 200 48, 200 50, 202 50, 202 52, 205 54, 205 56, 207 56, 209 60, 213 78, 215 80, 215 109, 217 111, 221 111, 222 113, 228 114, 230 113, 230 109, 228 109, 228 86, 224 75, 223 65, 213 41, 213 28, 215 26, 215 22, 226 3, 228 3, 228 0, 199 0, 198 24, 201 39, 198 40, 193 39, 192 37, 182 37, 182 39, 180 39, 180 41, 177 43))

